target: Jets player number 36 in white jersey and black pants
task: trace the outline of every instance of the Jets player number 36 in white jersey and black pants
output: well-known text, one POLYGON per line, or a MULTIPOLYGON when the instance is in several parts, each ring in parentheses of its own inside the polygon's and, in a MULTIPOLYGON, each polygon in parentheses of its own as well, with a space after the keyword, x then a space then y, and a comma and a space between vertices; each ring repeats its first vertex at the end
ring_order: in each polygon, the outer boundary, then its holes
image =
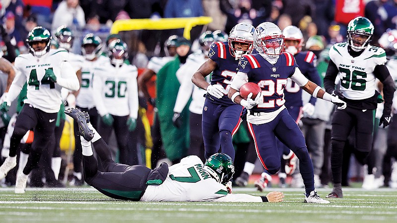
POLYGON ((336 43, 330 50, 330 62, 324 77, 327 92, 339 96, 347 103, 344 110, 336 110, 332 118, 331 170, 333 189, 328 198, 342 198, 341 169, 343 148, 351 130, 355 131, 354 153, 361 164, 372 149, 375 110, 382 102, 376 91, 375 79, 383 83, 385 101, 379 125, 389 125, 394 94, 393 79, 386 67, 386 53, 369 44, 374 26, 365 17, 352 19, 347 26, 347 42, 336 43), (335 79, 340 89, 335 89, 335 79))

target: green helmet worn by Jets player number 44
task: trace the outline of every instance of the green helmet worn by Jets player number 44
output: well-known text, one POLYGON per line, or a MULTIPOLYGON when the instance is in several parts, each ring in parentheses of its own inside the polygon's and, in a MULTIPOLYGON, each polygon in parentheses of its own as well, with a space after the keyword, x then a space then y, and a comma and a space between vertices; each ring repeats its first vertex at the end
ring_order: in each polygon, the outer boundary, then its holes
POLYGON ((50 51, 51 39, 52 39, 51 33, 50 31, 48 31, 48 29, 43 28, 41 26, 36 26, 32 30, 30 30, 28 37, 26 38, 25 41, 29 46, 29 52, 33 54, 33 56, 41 57, 44 54, 46 54, 48 51, 50 51), (46 46, 39 51, 33 49, 32 44, 41 41, 46 42, 46 46))

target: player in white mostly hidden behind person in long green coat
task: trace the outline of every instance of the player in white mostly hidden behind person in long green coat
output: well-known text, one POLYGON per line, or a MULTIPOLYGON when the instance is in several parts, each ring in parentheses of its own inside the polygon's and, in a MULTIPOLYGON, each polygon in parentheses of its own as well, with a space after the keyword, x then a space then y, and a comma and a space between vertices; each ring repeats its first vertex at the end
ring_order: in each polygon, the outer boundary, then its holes
MULTIPOLYGON (((164 67, 165 64, 175 59, 177 55, 176 51, 176 42, 177 35, 171 35, 168 37, 167 41, 164 43, 164 52, 166 54, 165 57, 152 57, 147 64, 146 69, 138 76, 138 89, 139 93, 143 94, 143 96, 147 99, 148 103, 150 103, 153 107, 155 105, 155 98, 152 98, 149 95, 146 84, 150 81, 150 79, 156 75, 161 68, 164 67)), ((156 108, 154 109, 156 111, 156 108)), ((161 133, 160 133, 160 122, 155 113, 154 123, 151 127, 151 137, 153 139, 153 147, 151 153, 151 166, 156 166, 157 160, 161 157, 165 156, 164 151, 161 151, 162 141, 161 141, 161 133)))

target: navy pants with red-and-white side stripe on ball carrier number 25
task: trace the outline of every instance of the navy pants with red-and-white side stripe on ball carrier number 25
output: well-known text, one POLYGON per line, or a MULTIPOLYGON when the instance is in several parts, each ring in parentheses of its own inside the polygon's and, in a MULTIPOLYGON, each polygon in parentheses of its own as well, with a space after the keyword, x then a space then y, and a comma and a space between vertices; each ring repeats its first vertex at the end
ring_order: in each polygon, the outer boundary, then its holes
POLYGON ((250 123, 249 129, 255 141, 258 158, 270 174, 275 174, 281 166, 277 137, 298 157, 306 193, 314 190, 313 164, 306 148, 305 138, 287 109, 282 110, 271 122, 260 125, 250 123))

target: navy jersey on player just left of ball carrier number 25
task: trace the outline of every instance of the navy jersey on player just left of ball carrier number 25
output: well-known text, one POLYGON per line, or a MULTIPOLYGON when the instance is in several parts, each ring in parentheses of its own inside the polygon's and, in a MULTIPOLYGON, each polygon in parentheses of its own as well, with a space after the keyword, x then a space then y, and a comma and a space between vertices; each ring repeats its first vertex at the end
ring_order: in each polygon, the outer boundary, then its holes
POLYGON ((223 86, 223 97, 216 98, 207 95, 212 102, 222 105, 233 105, 234 103, 227 97, 229 87, 233 77, 237 74, 239 61, 230 54, 230 48, 225 42, 213 42, 208 50, 208 57, 214 61, 217 66, 212 72, 211 85, 220 84, 223 86))

